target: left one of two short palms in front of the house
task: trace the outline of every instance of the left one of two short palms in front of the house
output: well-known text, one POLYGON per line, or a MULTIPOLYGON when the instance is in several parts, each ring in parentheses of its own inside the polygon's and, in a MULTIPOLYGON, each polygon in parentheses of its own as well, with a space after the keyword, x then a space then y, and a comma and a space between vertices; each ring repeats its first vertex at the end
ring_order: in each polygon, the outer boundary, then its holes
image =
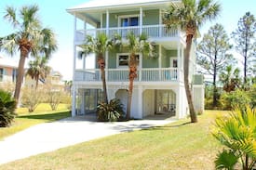
POLYGON ((119 35, 115 35, 113 39, 109 39, 105 33, 98 33, 94 38, 91 35, 87 36, 87 41, 84 45, 82 45, 83 52, 86 56, 88 54, 96 53, 97 62, 99 68, 101 70, 101 81, 103 87, 103 99, 105 103, 108 103, 107 96, 107 85, 106 85, 106 77, 105 77, 105 57, 104 54, 108 50, 117 49, 121 46, 121 37, 119 35))

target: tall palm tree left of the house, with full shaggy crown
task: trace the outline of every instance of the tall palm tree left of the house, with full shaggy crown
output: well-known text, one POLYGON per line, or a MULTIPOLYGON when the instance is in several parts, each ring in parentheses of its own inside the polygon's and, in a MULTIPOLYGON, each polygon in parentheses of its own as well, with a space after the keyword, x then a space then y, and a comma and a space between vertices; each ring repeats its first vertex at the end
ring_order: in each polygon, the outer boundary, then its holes
POLYGON ((6 51, 11 56, 20 52, 18 77, 15 86, 14 98, 20 98, 20 87, 24 76, 25 60, 29 57, 46 56, 57 49, 55 34, 48 28, 42 28, 37 17, 37 6, 21 7, 18 11, 14 7, 7 7, 4 19, 9 21, 16 29, 5 37, 0 38, 0 50, 6 51), (18 15, 19 14, 19 15, 18 15), (20 16, 20 20, 19 20, 20 16))

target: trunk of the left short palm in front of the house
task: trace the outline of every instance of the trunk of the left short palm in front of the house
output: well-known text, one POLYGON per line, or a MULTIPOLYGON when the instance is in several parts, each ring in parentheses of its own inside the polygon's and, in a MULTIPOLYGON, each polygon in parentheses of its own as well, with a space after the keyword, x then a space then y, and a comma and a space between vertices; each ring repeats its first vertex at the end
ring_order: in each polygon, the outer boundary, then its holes
POLYGON ((106 85, 106 76, 105 76, 105 61, 103 55, 100 53, 98 56, 98 65, 101 69, 101 81, 103 88, 103 100, 108 104, 108 95, 107 95, 107 85, 106 85))

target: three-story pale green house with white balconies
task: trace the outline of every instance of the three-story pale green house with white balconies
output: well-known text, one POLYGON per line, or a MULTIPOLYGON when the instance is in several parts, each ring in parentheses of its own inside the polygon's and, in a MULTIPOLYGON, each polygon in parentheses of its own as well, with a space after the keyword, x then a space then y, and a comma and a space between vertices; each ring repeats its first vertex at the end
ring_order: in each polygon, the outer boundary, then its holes
MULTIPOLYGON (((142 119, 155 114, 169 114, 183 118, 188 114, 183 84, 185 36, 179 28, 168 28, 162 23, 162 10, 169 0, 112 0, 89 1, 67 11, 74 15, 74 80, 72 115, 95 112, 101 101, 101 72, 97 62, 78 60, 79 45, 87 34, 115 33, 125 39, 128 32, 147 33, 155 43, 157 58, 138 55, 138 78, 134 81, 131 117, 142 119), (82 23, 82 24, 81 24, 82 23), (84 25, 84 28, 79 26, 84 25), (82 63, 82 64, 81 64, 82 63), (87 65, 94 64, 94 69, 87 65), (79 67, 80 66, 80 67, 79 67)), ((173 1, 181 3, 181 1, 173 1)), ((190 82, 194 92, 196 111, 203 111, 203 77, 195 75, 195 45, 190 60, 190 82), (194 84, 194 85, 193 85, 194 84)), ((120 98, 128 103, 128 51, 106 52, 106 81, 108 98, 120 98)))

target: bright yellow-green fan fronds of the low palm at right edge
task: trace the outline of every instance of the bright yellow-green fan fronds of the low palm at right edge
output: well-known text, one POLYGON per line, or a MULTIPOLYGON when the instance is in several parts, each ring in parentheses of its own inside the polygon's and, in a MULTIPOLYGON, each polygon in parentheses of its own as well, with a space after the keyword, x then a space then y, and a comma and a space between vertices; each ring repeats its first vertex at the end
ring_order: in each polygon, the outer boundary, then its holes
POLYGON ((256 111, 249 106, 236 109, 228 117, 217 118, 212 134, 237 153, 242 163, 245 155, 251 160, 256 158, 256 111))

